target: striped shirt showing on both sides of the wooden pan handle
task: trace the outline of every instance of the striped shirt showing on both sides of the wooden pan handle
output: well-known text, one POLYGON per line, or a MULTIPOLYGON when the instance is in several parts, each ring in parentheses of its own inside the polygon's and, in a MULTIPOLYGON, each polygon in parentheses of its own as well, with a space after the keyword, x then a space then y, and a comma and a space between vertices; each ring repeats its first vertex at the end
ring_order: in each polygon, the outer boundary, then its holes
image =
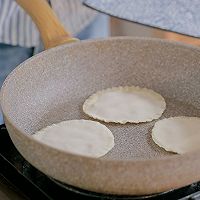
MULTIPOLYGON (((72 35, 79 33, 96 16, 81 0, 51 0, 51 6, 64 27, 72 35)), ((14 0, 0 0, 0 43, 35 47, 39 32, 31 18, 14 0)))

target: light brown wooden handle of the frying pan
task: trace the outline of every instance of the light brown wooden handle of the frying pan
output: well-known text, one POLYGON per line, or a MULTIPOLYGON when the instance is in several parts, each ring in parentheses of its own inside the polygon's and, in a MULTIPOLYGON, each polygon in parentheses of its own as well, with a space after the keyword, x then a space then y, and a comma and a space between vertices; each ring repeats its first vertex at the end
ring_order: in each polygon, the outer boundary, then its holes
POLYGON ((16 0, 16 2, 37 25, 45 49, 78 40, 72 38, 64 29, 46 0, 16 0))

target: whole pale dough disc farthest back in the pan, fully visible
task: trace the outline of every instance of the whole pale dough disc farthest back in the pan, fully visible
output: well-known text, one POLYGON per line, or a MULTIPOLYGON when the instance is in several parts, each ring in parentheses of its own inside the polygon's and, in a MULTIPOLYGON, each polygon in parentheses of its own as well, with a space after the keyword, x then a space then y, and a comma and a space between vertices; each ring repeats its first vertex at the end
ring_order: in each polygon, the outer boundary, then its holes
POLYGON ((125 124, 158 119, 166 108, 164 98, 140 87, 113 87, 90 96, 83 111, 94 119, 125 124))

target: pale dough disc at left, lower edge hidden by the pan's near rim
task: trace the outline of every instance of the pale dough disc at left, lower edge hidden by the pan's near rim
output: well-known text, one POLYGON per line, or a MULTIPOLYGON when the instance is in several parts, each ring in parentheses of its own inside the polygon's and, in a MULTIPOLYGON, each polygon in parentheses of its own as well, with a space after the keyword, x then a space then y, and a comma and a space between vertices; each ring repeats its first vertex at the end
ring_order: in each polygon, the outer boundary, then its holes
POLYGON ((69 120, 47 126, 33 137, 56 149, 90 157, 101 157, 114 146, 112 132, 90 120, 69 120))

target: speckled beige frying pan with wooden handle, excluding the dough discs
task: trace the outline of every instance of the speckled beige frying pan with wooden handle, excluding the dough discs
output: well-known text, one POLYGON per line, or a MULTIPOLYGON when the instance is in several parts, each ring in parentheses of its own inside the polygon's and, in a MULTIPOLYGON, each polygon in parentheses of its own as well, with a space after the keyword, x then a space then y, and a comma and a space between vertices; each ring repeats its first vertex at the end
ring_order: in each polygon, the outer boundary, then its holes
POLYGON ((27 161, 63 183, 106 194, 152 194, 200 180, 200 151, 177 155, 155 145, 151 129, 156 120, 105 123, 115 136, 115 147, 102 158, 57 150, 31 136, 62 120, 90 119, 82 111, 85 99, 120 85, 163 95, 167 109, 162 118, 199 117, 199 48, 133 37, 72 42, 45 1, 18 3, 36 22, 47 49, 19 65, 1 90, 6 127, 27 161))

